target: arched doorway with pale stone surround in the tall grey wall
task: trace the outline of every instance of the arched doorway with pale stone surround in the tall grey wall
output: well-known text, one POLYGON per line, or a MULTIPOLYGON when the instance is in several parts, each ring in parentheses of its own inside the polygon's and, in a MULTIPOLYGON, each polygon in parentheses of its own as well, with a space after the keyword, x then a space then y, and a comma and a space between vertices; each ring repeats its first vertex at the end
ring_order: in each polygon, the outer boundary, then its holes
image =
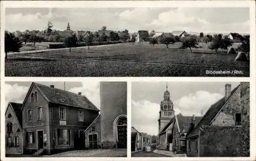
POLYGON ((118 116, 114 121, 114 135, 117 148, 127 148, 127 118, 126 115, 118 116))

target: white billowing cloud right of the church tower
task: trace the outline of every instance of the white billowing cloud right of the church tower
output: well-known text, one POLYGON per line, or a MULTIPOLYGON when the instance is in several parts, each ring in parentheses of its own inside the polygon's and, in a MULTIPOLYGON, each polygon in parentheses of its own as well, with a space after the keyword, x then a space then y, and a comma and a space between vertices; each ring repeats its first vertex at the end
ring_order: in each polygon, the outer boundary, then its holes
POLYGON ((177 106, 177 108, 181 110, 181 113, 184 116, 191 116, 193 114, 196 116, 201 116, 201 110, 203 110, 203 113, 206 113, 210 105, 214 104, 222 97, 223 95, 220 93, 197 91, 176 100, 174 106, 177 106))

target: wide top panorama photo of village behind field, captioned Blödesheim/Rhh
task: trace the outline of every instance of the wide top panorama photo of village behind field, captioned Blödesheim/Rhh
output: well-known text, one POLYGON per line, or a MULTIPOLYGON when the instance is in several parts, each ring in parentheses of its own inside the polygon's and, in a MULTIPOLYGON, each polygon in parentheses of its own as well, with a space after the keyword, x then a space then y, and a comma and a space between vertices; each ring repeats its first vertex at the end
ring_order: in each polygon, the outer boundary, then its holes
POLYGON ((249 8, 5 8, 4 25, 6 76, 250 73, 249 8))

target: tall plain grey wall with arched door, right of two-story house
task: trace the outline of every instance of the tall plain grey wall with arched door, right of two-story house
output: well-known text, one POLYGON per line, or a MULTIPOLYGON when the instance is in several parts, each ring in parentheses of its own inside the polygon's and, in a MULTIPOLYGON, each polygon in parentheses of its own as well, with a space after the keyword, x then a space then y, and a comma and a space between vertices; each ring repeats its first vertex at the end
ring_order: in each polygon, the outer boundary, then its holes
POLYGON ((100 82, 102 148, 127 148, 126 102, 126 82, 100 82))

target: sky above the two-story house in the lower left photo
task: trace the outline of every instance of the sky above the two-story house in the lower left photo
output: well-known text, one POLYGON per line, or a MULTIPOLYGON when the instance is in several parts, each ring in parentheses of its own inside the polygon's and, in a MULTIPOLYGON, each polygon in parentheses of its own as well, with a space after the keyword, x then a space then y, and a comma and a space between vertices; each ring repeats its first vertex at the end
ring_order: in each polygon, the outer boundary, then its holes
MULTIPOLYGON (((36 82, 42 85, 54 85, 54 88, 64 90, 64 82, 36 82)), ((5 103, 23 103, 32 82, 6 82, 5 83, 5 103), (14 94, 15 93, 15 94, 14 94)), ((98 109, 100 109, 99 82, 65 82, 66 91, 81 92, 98 109)), ((7 108, 7 105, 6 107, 7 108)))

